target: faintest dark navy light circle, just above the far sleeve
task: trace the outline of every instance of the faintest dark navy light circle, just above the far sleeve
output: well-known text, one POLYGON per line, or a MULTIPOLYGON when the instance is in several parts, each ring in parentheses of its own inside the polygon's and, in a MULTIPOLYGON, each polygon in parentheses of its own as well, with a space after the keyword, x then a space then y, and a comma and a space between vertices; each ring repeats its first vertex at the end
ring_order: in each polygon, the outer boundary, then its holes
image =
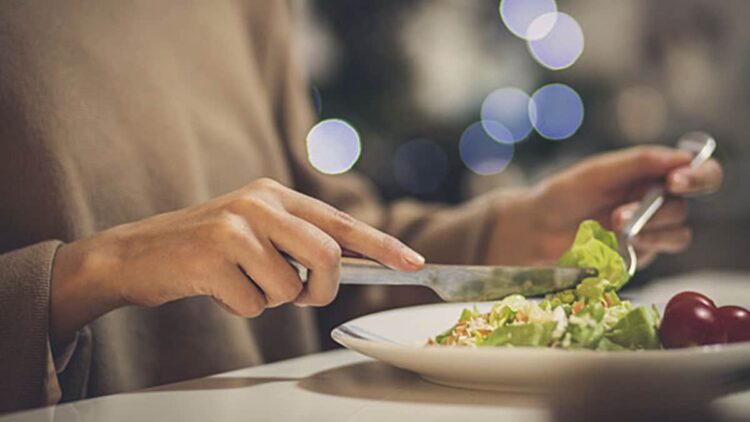
POLYGON ((408 141, 396 150, 393 176, 406 191, 435 192, 448 175, 448 157, 440 145, 429 139, 408 141))

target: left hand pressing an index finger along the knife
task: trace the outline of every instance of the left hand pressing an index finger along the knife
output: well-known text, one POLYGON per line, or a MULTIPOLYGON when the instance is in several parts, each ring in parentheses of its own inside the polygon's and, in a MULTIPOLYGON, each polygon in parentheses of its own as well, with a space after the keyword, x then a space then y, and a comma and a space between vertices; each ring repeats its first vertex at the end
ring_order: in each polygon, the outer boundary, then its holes
POLYGON ((342 247, 404 271, 424 258, 395 238, 269 179, 199 206, 114 227, 58 251, 51 329, 64 341, 116 307, 211 296, 253 317, 294 302, 325 305, 342 247), (306 284, 282 256, 308 268, 306 284))

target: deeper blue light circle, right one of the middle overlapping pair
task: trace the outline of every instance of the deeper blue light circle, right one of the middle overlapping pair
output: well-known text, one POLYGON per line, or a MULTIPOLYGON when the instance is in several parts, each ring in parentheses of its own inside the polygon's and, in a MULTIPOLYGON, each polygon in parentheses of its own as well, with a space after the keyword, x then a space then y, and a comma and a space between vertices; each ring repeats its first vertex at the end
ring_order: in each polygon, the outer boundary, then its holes
POLYGON ((544 138, 565 139, 583 123, 583 101, 567 85, 545 85, 531 96, 529 116, 534 129, 544 138))

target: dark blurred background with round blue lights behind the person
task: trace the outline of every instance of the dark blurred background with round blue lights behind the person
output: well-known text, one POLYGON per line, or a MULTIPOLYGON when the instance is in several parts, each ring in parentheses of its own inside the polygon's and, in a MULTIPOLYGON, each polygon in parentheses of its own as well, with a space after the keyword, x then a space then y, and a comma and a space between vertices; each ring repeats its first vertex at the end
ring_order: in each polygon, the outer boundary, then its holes
MULTIPOLYGON (((743 182, 750 180, 750 2, 295 6, 299 53, 320 118, 308 152, 320 171, 362 172, 387 200, 455 203, 531 185, 595 153, 672 146, 686 132, 705 130, 718 142, 725 185, 691 201, 691 248, 660 257, 628 288, 704 269, 750 269, 750 184, 743 182)), ((435 300, 423 293, 399 296, 404 304, 435 300)), ((376 310, 353 303, 336 301, 320 312, 321 338, 376 310)))

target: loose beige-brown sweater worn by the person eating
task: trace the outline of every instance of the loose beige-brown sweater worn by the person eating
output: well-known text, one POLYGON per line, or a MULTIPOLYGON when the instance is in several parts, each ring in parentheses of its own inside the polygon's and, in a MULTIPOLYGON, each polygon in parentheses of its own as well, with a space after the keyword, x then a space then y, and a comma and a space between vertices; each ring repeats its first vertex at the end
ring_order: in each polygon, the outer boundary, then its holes
POLYGON ((0 411, 56 400, 58 381, 73 400, 315 351, 312 310, 246 320, 193 298, 111 312, 48 366, 60 242, 261 176, 429 260, 478 259, 491 218, 484 201, 385 206, 362 177, 308 166, 314 121, 286 9, 269 0, 0 3, 0 411))

